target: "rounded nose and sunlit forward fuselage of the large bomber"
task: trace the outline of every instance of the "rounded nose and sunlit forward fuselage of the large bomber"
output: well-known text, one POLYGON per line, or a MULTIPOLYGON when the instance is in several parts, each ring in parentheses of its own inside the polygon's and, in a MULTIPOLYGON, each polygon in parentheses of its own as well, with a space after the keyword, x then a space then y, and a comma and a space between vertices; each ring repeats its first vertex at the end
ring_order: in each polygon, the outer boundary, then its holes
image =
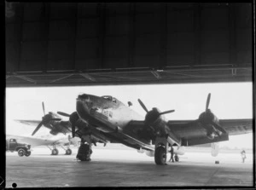
POLYGON ((144 117, 113 96, 79 95, 77 98, 79 117, 102 130, 123 129, 131 120, 143 120, 144 117), (108 127, 108 129, 106 128, 108 127))

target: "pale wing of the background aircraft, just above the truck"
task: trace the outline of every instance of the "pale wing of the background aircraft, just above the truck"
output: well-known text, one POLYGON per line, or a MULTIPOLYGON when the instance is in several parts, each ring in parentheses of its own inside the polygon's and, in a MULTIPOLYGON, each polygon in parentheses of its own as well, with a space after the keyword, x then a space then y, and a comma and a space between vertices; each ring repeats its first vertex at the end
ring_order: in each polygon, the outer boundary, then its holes
MULTIPOLYGON (((26 137, 26 136, 20 136, 20 135, 6 135, 6 139, 16 139, 20 143, 27 143, 30 144, 32 147, 37 147, 37 146, 49 146, 53 144, 65 144, 64 137, 61 137, 60 139, 57 140, 49 140, 49 139, 41 139, 41 138, 32 138, 32 137, 26 137)), ((65 140, 67 137, 65 137, 65 140)))

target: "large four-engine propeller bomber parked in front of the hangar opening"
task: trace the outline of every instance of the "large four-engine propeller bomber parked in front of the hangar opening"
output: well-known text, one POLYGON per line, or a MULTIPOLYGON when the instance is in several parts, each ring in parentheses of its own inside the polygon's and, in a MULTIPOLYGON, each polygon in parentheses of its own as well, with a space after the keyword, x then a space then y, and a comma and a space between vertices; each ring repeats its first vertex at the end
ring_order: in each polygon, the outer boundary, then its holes
MULTIPOLYGON (((218 141, 228 141, 229 135, 240 135, 252 132, 252 119, 220 119, 208 108, 211 94, 207 96, 207 106, 195 120, 170 120, 165 114, 174 110, 160 112, 154 107, 148 111, 143 101, 138 102, 146 112, 145 118, 117 100, 113 96, 79 95, 76 103, 76 112, 67 114, 69 121, 53 113, 43 117, 40 121, 19 120, 23 124, 38 124, 35 134, 44 125, 52 135, 72 132, 73 137, 81 139, 77 158, 89 161, 91 143, 122 143, 133 147, 139 153, 146 153, 154 157, 156 164, 166 164, 166 154, 169 146, 175 146, 177 153, 183 154, 183 146, 193 146, 218 141), (89 146, 88 146, 88 144, 89 146), (86 151, 89 147, 89 151, 86 151)), ((44 108, 44 104, 43 104, 44 108)), ((32 134, 32 135, 33 135, 32 134)))

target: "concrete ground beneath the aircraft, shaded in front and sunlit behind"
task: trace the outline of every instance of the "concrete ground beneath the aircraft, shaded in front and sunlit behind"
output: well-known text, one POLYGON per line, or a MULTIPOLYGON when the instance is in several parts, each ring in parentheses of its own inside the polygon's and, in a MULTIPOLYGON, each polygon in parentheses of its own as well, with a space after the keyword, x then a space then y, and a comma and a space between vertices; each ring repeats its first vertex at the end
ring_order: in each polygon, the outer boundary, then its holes
MULTIPOLYGON (((72 155, 50 156, 38 147, 30 157, 6 153, 6 187, 253 187, 253 154, 185 153, 180 162, 154 164, 136 150, 93 149, 92 161, 72 155), (218 160, 219 164, 215 164, 218 160)), ((168 158, 169 159, 169 158, 168 158)))

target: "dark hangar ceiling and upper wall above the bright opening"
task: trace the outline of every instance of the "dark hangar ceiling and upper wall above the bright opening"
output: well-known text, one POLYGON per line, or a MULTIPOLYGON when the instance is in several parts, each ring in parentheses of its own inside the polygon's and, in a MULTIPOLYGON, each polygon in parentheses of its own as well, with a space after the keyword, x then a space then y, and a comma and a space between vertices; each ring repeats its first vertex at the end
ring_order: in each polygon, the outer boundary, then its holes
POLYGON ((6 3, 6 86, 253 79, 251 3, 6 3))

